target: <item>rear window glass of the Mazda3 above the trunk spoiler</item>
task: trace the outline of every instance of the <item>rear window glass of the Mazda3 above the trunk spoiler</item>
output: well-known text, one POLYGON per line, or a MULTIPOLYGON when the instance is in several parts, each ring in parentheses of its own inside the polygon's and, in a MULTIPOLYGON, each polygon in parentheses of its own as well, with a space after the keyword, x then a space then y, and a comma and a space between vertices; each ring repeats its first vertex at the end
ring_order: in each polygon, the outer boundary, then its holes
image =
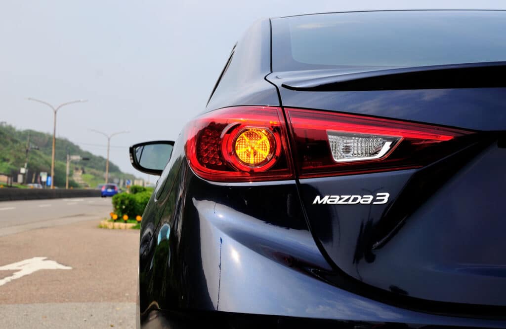
POLYGON ((272 20, 274 71, 506 61, 506 11, 393 11, 272 20))

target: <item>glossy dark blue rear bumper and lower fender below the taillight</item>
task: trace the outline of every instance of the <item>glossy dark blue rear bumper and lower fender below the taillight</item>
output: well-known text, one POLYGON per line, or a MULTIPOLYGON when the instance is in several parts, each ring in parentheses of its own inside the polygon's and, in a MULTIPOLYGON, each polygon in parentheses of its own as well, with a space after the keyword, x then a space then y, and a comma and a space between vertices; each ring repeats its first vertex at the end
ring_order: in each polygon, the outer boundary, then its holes
POLYGON ((209 183, 185 166, 143 215, 143 327, 506 327, 504 317, 419 312, 330 284, 295 182, 209 183))

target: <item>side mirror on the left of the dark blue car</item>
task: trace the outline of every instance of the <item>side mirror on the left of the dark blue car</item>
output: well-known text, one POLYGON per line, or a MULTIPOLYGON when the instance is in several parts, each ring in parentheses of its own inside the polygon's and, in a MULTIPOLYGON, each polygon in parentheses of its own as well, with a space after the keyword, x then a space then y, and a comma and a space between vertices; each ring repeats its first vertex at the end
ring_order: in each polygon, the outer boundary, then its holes
POLYGON ((171 159, 173 148, 172 140, 156 140, 132 145, 130 162, 141 172, 160 176, 168 160, 171 159))

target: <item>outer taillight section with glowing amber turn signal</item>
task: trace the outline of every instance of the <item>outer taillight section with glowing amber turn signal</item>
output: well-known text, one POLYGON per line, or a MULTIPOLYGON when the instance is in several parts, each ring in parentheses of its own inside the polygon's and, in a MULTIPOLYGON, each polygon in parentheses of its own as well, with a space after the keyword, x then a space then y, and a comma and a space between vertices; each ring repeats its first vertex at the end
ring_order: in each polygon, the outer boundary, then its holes
POLYGON ((233 107, 198 117, 186 128, 186 157, 214 181, 293 178, 283 114, 276 107, 233 107))

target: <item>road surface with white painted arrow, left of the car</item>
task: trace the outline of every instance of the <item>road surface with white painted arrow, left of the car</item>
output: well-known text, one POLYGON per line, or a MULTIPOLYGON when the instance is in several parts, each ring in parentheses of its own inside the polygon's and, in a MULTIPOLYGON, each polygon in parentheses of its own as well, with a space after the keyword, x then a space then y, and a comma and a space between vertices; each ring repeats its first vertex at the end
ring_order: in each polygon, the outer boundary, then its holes
POLYGON ((111 199, 0 202, 0 327, 133 328, 138 230, 111 199))

